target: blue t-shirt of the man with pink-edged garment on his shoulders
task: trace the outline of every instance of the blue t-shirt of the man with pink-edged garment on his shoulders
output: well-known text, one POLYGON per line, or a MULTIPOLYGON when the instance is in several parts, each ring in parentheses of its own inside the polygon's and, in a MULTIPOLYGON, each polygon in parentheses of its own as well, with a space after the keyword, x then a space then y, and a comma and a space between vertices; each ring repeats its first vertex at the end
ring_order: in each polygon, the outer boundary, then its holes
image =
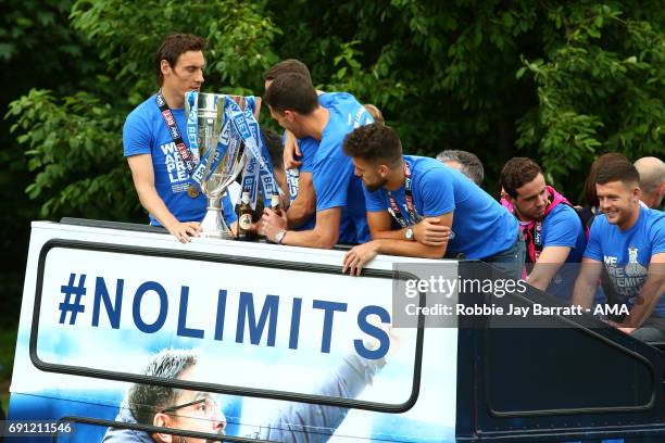
POLYGON ((569 300, 573 295, 575 279, 579 273, 578 264, 581 262, 587 248, 585 228, 573 207, 563 203, 557 204, 544 217, 542 221, 542 246, 543 249, 547 246, 570 248, 566 264, 559 269, 545 291, 560 299, 569 300), (577 265, 573 265, 573 263, 577 265))

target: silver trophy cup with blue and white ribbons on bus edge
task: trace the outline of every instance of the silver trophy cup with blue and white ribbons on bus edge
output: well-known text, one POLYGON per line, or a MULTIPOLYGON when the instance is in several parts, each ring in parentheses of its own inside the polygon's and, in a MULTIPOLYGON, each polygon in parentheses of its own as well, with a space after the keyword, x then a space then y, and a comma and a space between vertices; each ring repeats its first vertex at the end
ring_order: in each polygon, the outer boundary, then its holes
MULTIPOLYGON (((243 97, 228 97, 238 103, 241 109, 244 107, 243 97)), ((231 239, 234 236, 229 232, 226 221, 224 221, 222 198, 229 185, 242 170, 244 155, 241 152, 241 141, 235 131, 230 130, 229 125, 228 148, 226 152, 217 153, 217 140, 224 121, 224 94, 200 92, 197 105, 199 155, 200 159, 206 156, 209 159, 201 179, 201 190, 208 198, 208 208, 201 221, 201 235, 202 237, 231 239), (212 159, 216 155, 221 159, 214 165, 212 159)), ((187 112, 189 113, 189 109, 187 112)))

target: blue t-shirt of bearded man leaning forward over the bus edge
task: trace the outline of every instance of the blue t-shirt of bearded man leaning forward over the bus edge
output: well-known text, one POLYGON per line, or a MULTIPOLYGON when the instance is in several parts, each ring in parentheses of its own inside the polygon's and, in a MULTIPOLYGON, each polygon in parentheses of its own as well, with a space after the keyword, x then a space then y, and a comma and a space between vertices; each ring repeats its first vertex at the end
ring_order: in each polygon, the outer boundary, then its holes
MULTIPOLYGON (((404 161, 411 168, 411 192, 418 220, 454 211, 448 251, 463 252, 466 258, 487 258, 515 243, 517 219, 466 176, 434 159, 404 155, 404 161)), ((388 190, 363 190, 367 211, 391 211, 388 190)), ((409 220, 404 186, 391 194, 409 220)))

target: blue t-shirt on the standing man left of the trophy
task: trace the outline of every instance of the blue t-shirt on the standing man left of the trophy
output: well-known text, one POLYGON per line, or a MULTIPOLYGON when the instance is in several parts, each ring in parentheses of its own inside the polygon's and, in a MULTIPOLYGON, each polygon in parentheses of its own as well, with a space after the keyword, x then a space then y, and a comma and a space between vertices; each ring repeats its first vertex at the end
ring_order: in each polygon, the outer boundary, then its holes
MULTIPOLYGON (((185 110, 171 110, 189 148, 185 110)), ((198 185, 189 178, 187 168, 173 142, 168 127, 156 104, 155 96, 139 104, 125 121, 123 127, 125 156, 150 154, 154 169, 154 187, 164 204, 179 221, 201 221, 205 215, 208 200, 203 193, 196 199, 187 195, 189 185, 198 185)), ((228 198, 224 197, 224 219, 228 225, 238 218, 228 198)), ((161 226, 150 214, 150 224, 161 226)))

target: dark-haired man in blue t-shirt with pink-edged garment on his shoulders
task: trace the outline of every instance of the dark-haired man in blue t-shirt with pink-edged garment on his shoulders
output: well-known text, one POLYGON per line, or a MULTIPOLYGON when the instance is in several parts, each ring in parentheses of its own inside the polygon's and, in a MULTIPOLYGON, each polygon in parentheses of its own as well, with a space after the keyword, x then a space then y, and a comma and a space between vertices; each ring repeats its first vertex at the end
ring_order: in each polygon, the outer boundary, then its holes
POLYGON ((570 203, 545 185, 531 159, 513 157, 501 170, 501 186, 526 242, 529 284, 570 300, 587 237, 570 203))

